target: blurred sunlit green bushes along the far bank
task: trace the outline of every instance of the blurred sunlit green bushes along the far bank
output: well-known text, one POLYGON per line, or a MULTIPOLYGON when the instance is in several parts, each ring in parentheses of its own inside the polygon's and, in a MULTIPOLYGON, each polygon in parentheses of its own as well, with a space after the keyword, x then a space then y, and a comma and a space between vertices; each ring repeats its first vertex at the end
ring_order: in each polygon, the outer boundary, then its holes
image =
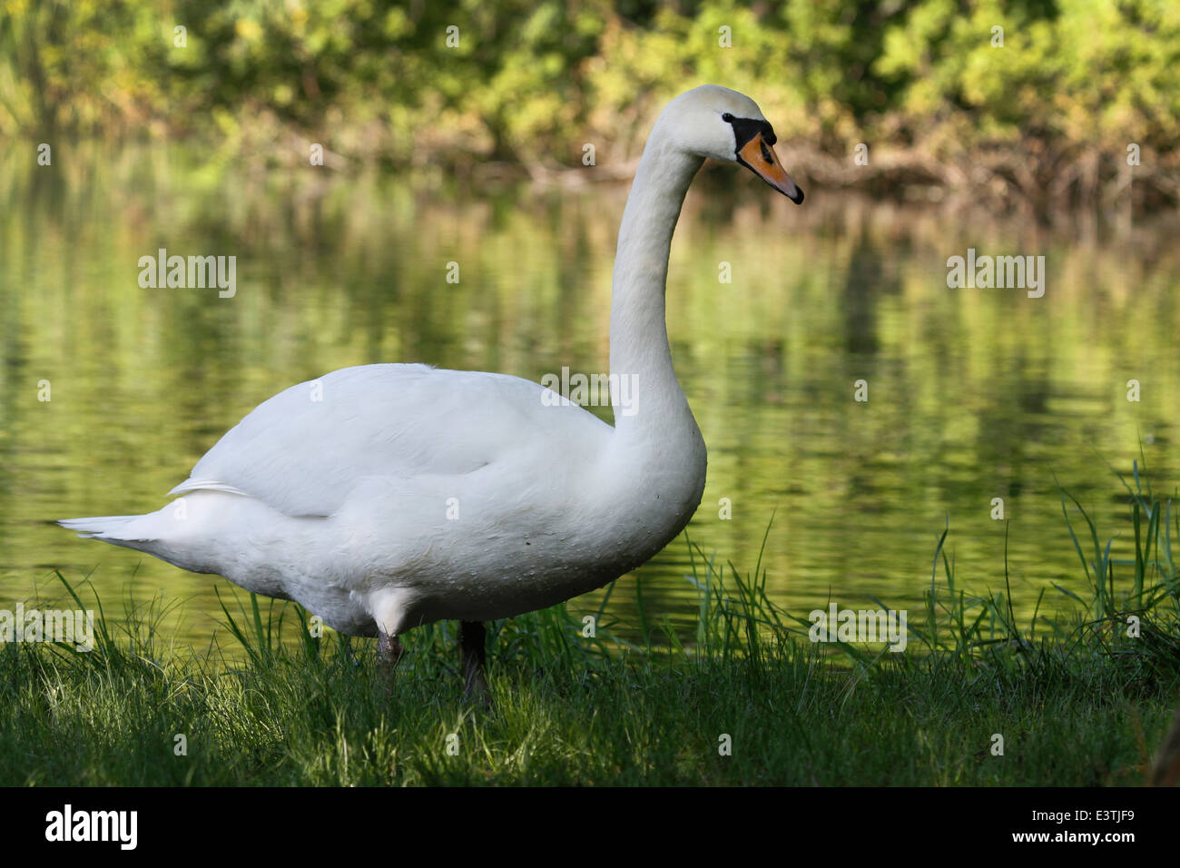
POLYGON ((911 149, 930 181, 1063 200, 1121 189, 1136 144, 1138 176, 1174 195, 1169 0, 5 0, 4 12, 0 135, 149 129, 237 152, 294 148, 295 133, 401 165, 556 168, 576 165, 584 142, 602 159, 634 157, 668 98, 716 81, 756 94, 782 138, 840 159, 859 142, 911 149))

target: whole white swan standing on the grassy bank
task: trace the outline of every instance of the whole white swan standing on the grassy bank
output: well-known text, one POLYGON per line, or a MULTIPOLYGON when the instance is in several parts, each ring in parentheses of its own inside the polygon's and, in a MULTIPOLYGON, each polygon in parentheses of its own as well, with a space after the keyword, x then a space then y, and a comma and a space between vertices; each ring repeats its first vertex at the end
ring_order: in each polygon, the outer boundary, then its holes
POLYGON ((425 365, 365 365, 260 404, 149 515, 67 518, 79 536, 299 601, 333 628, 396 637, 479 624, 584 594, 655 555, 704 489, 700 429, 664 325, 673 230, 706 157, 741 163, 799 203, 748 97, 703 85, 648 138, 618 231, 610 372, 634 386, 615 426, 536 383, 425 365), (631 412, 634 411, 634 412, 631 412))

